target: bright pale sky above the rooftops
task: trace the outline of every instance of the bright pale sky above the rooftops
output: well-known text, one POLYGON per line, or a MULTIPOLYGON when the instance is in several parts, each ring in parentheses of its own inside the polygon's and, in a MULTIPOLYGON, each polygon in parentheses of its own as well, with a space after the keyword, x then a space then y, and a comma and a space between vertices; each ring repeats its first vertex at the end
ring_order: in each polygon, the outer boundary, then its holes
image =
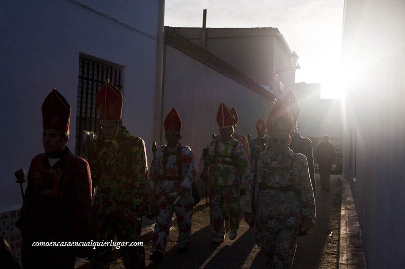
MULTIPOLYGON (((276 27, 300 57, 296 82, 321 83, 332 91, 341 79, 340 40, 344 0, 166 0, 165 25, 276 27)), ((336 90, 334 90, 336 91, 336 90)))

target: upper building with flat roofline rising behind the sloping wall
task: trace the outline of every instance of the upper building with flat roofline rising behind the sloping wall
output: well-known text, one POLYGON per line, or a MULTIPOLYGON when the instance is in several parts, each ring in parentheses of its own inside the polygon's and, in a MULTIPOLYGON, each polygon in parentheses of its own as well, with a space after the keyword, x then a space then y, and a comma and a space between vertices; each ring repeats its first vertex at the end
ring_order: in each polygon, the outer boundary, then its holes
POLYGON ((277 28, 165 28, 267 86, 277 98, 294 88, 295 69, 290 60, 293 52, 277 28))

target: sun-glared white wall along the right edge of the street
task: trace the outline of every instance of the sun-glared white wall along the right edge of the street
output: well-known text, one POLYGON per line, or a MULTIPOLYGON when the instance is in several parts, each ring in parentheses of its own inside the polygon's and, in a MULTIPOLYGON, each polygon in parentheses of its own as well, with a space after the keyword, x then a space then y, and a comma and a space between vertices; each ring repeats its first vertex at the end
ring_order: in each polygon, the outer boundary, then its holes
POLYGON ((356 178, 370 269, 405 267, 404 10, 402 0, 345 2, 344 68, 355 75, 346 91, 344 175, 356 178))

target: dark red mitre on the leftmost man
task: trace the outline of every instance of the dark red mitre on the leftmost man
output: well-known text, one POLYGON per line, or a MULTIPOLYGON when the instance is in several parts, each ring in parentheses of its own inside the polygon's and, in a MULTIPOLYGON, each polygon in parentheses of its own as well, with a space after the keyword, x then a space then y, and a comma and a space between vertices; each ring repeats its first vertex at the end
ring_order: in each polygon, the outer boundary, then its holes
POLYGON ((69 135, 71 108, 56 88, 42 104, 42 124, 44 131, 63 132, 69 135))

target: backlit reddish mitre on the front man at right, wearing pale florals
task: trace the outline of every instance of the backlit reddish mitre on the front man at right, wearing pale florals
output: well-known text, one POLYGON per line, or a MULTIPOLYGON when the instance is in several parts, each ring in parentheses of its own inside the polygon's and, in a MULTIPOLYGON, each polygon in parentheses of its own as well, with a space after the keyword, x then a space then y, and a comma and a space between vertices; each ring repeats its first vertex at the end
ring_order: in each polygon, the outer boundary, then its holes
POLYGON ((267 114, 266 125, 270 135, 274 133, 290 135, 295 124, 288 107, 283 102, 277 101, 267 114))

